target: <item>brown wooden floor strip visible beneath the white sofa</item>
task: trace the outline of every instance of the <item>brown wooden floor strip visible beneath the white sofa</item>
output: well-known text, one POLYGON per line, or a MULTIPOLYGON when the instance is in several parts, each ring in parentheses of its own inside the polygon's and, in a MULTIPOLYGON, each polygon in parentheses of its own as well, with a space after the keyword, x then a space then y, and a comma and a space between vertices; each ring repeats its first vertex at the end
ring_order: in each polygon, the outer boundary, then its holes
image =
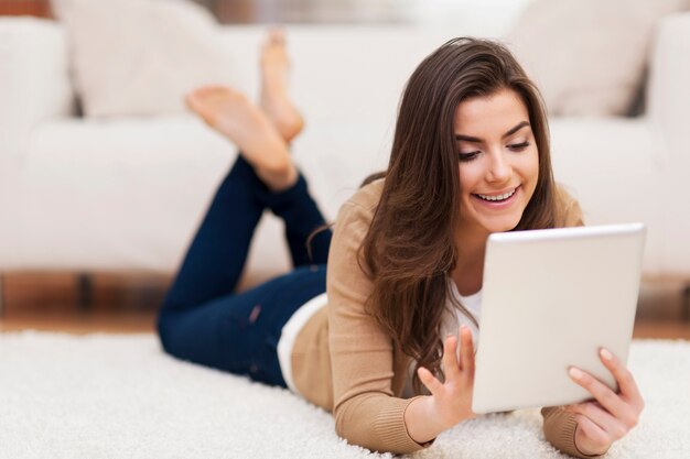
MULTIPOLYGON (((10 274, 4 276, 1 331, 26 329, 69 334, 153 332, 155 315, 170 278, 142 275, 90 276, 90 305, 80 297, 76 274, 10 274)), ((680 319, 677 284, 643 283, 635 338, 690 340, 690 323, 680 319)))

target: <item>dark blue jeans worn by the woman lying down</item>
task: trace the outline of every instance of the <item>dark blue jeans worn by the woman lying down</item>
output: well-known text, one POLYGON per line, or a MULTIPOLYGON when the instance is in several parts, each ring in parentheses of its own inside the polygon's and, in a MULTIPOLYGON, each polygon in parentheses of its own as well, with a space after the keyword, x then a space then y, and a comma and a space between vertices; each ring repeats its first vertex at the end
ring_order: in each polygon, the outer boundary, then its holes
POLYGON ((285 387, 277 346, 283 325, 326 289, 331 230, 309 236, 325 220, 300 174, 271 193, 238 156, 223 181, 185 255, 158 317, 163 349, 179 358, 285 387), (283 219, 294 270, 234 293, 265 209, 283 219))

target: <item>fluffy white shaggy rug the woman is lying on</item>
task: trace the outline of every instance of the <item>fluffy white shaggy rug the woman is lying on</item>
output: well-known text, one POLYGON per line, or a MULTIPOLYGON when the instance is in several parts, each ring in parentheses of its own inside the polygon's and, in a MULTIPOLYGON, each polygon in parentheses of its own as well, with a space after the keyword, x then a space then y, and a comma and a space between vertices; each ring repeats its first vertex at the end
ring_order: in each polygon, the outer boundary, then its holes
MULTIPOLYGON (((635 341, 647 402, 607 458, 690 458, 690 342, 635 341)), ((392 458, 287 390, 164 354, 153 335, 0 334, 0 458, 392 458)), ((448 430, 416 458, 563 458, 537 411, 448 430)))

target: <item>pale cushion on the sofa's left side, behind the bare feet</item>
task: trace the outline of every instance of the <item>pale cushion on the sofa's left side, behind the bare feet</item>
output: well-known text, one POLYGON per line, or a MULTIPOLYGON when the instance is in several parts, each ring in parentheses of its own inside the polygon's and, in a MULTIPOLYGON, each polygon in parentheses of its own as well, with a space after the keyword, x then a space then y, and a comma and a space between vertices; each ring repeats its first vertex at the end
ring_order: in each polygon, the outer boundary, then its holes
POLYGON ((185 0, 54 0, 89 117, 184 111, 183 96, 230 83, 218 26, 185 0))

